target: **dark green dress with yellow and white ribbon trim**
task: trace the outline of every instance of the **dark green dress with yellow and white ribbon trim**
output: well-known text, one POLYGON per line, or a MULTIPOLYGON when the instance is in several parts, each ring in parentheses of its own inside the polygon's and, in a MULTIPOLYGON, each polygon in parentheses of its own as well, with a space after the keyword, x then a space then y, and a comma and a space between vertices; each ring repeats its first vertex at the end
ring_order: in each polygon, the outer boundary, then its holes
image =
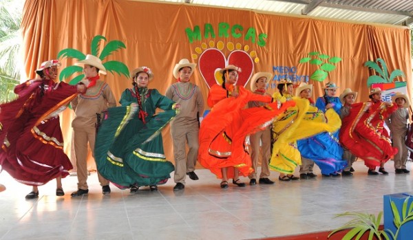
POLYGON ((99 128, 95 159, 98 171, 119 188, 165 184, 174 170, 165 158, 160 131, 176 116, 175 102, 156 89, 139 88, 142 121, 134 89, 126 89, 120 98, 122 107, 113 107, 104 114, 99 128), (164 111, 155 115, 157 108, 164 111))

